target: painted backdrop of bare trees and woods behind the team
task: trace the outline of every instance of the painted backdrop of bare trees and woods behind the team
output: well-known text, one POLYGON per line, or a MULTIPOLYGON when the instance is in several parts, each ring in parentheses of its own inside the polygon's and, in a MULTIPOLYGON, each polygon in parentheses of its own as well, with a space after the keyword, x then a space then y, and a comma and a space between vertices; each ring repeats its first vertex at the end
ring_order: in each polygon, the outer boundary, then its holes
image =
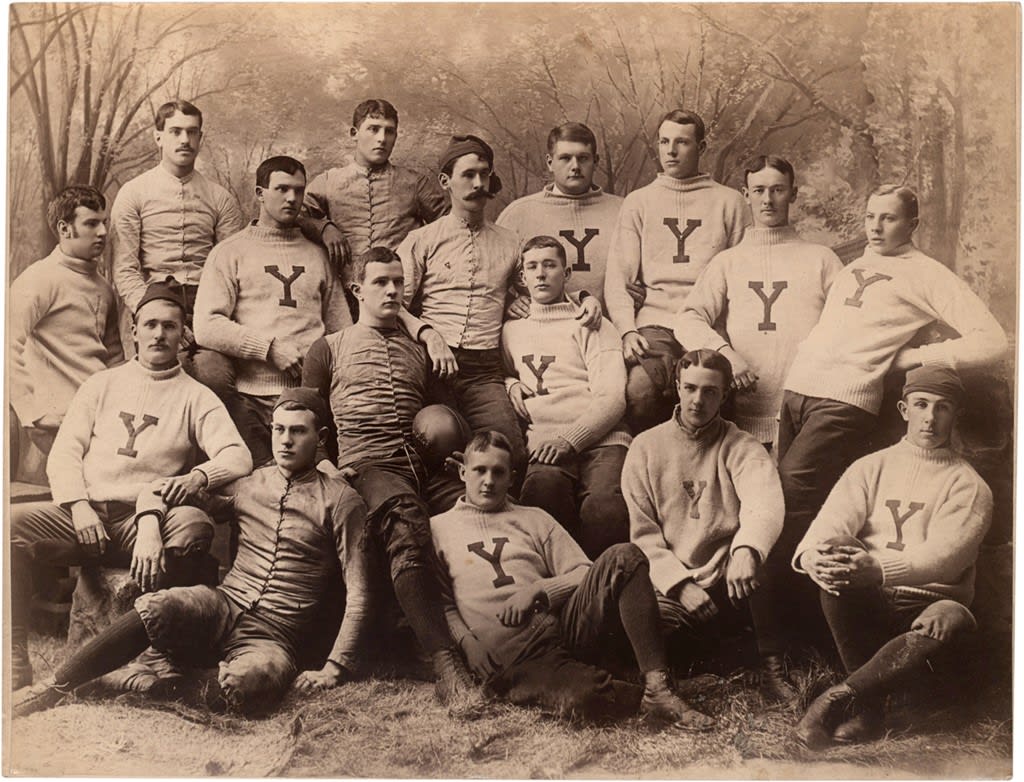
POLYGON ((658 115, 709 126, 706 170, 797 167, 809 238, 861 236, 866 193, 922 197, 921 247, 1014 331, 1018 8, 1002 5, 10 6, 8 279, 52 245, 44 205, 91 182, 113 198, 157 162, 154 110, 205 115, 199 167, 253 212, 256 165, 348 157, 355 103, 390 99, 394 158, 423 170, 452 132, 498 150, 509 200, 545 182, 548 130, 581 120, 598 181, 625 194, 657 170, 658 115))

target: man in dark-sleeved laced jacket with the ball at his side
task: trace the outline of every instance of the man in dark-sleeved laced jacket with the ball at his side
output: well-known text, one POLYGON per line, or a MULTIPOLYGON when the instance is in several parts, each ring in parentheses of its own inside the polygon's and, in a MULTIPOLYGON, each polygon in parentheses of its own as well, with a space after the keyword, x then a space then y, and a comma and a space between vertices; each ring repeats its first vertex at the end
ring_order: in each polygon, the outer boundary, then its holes
POLYGON ((358 321, 313 343, 302 382, 330 404, 338 465, 354 471, 352 485, 367 504, 368 539, 386 556, 398 603, 432 659, 437 695, 449 702, 470 691, 470 680, 452 648, 429 567, 430 514, 422 497, 429 488, 430 494, 446 493, 451 503, 458 490, 454 480, 428 475, 413 444, 413 419, 423 407, 429 368, 426 351, 398 323, 401 259, 387 248, 372 248, 355 259, 351 272, 358 321))

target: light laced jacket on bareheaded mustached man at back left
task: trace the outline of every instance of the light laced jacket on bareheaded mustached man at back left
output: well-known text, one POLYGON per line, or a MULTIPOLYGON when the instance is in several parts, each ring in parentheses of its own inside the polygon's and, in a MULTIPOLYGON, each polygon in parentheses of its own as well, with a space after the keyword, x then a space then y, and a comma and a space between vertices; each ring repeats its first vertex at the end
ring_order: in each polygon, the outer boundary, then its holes
POLYGON ((151 281, 172 276, 198 286, 210 250, 246 219, 234 198, 199 171, 178 178, 158 165, 118 190, 111 225, 114 285, 134 311, 151 281))

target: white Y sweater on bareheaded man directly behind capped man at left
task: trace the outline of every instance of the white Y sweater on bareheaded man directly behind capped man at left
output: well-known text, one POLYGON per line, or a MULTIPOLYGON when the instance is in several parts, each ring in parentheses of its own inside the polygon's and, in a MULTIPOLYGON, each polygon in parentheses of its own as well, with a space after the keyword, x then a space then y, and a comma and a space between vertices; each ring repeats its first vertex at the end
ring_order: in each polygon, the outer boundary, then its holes
POLYGON ((253 222, 210 253, 195 322, 201 345, 238 359, 241 393, 276 396, 298 379, 267 359, 270 343, 287 340, 305 355, 352 318, 323 248, 298 227, 253 222))

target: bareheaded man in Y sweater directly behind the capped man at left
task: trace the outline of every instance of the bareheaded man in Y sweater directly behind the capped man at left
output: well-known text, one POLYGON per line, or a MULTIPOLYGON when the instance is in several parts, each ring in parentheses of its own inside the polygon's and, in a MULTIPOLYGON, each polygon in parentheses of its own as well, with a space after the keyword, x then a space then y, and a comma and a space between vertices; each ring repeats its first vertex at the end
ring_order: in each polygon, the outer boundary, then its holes
POLYGON ((234 359, 239 428, 256 466, 270 459, 273 402, 299 385, 309 346, 351 324, 327 254, 298 227, 305 186, 294 158, 259 165, 259 219, 214 248, 196 298, 200 343, 234 359))

